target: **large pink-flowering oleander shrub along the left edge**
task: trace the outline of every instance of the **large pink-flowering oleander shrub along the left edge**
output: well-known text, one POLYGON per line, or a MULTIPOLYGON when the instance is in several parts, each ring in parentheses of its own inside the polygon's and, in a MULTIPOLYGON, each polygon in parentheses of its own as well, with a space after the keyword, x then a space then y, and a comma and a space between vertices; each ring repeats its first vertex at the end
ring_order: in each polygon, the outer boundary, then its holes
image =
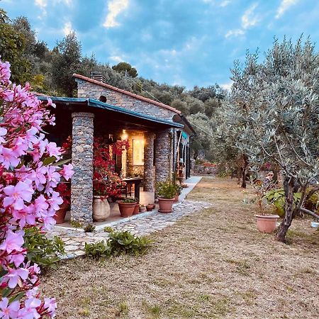
POLYGON ((54 125, 47 104, 30 86, 11 84, 9 62, 0 60, 0 318, 53 318, 55 298, 40 299, 37 264, 26 262, 24 229, 49 230, 62 204, 55 191, 72 165, 59 167, 63 150, 49 142, 45 125, 54 125))

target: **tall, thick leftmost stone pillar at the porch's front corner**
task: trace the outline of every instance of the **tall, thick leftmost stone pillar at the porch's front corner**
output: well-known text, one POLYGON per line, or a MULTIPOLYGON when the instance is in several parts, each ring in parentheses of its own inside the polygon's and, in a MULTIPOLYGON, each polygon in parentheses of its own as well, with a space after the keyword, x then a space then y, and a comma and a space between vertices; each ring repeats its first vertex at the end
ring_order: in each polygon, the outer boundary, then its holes
POLYGON ((71 220, 92 222, 94 114, 72 113, 71 220))

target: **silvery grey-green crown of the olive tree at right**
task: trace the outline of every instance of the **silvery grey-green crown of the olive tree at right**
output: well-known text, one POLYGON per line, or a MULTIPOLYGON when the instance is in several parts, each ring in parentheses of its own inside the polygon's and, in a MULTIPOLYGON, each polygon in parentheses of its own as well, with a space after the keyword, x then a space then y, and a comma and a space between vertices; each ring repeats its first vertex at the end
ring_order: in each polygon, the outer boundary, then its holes
POLYGON ((261 63, 247 54, 235 63, 234 85, 223 106, 223 125, 237 152, 258 170, 276 162, 300 184, 319 176, 319 56, 310 40, 274 42, 261 63))

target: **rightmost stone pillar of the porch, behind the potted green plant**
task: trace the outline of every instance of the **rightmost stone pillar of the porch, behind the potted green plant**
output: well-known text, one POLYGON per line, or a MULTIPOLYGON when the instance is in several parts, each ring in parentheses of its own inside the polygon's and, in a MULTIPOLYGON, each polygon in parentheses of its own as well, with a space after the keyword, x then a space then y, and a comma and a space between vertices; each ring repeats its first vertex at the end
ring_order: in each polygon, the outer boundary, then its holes
POLYGON ((170 130, 156 134, 155 139, 155 181, 167 181, 172 176, 172 150, 170 130))

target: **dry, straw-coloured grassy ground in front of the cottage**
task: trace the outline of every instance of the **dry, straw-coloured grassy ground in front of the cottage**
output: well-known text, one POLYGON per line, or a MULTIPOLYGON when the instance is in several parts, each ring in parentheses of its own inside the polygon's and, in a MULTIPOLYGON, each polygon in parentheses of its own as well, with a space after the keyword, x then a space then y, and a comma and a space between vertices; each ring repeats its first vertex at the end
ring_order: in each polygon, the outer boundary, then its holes
POLYGON ((42 276, 57 318, 319 318, 319 231, 294 220, 289 245, 259 233, 251 191, 206 177, 208 208, 152 235, 150 252, 72 259, 42 276))

